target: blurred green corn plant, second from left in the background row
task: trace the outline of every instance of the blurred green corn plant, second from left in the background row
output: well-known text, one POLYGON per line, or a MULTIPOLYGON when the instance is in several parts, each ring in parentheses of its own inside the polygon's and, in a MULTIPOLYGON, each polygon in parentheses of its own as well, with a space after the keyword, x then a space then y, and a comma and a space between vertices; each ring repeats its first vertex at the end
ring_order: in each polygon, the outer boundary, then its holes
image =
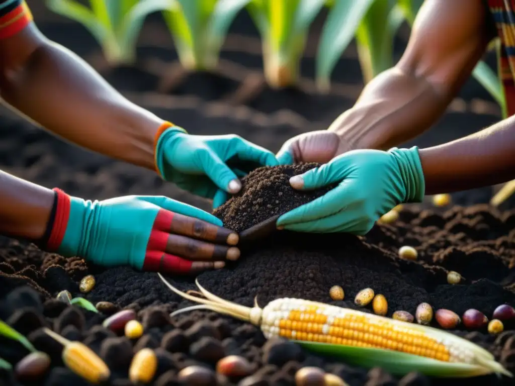
POLYGON ((183 67, 212 70, 234 17, 249 0, 173 0, 163 12, 183 67))

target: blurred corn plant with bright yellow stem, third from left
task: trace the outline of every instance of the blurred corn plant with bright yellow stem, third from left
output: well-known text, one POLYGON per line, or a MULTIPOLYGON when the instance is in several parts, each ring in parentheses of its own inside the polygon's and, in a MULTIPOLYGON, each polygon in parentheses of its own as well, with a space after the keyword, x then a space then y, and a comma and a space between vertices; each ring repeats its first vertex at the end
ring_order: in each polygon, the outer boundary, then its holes
POLYGON ((261 35, 265 78, 271 87, 297 82, 308 29, 324 4, 325 0, 251 0, 247 5, 261 35))

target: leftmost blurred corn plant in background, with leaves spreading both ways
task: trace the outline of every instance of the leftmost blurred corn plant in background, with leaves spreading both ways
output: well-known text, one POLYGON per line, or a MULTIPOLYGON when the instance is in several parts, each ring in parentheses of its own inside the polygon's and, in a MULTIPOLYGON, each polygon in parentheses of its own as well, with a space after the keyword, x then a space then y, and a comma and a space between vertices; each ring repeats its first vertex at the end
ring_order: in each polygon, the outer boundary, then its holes
POLYGON ((112 65, 132 64, 135 46, 148 14, 173 7, 174 0, 46 0, 47 7, 87 28, 112 65))

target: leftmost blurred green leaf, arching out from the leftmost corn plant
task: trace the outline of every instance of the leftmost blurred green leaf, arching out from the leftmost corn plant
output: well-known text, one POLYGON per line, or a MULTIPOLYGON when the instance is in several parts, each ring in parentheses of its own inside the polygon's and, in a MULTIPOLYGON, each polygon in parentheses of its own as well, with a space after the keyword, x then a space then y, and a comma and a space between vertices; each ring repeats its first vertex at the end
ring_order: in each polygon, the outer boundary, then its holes
POLYGON ((110 31, 88 7, 77 3, 75 0, 46 0, 46 5, 53 12, 82 24, 98 43, 102 44, 108 39, 110 31))

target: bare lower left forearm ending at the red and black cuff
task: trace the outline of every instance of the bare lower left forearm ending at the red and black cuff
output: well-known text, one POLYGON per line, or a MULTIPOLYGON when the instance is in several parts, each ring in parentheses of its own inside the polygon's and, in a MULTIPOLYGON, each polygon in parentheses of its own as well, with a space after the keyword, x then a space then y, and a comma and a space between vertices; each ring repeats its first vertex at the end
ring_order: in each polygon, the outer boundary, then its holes
POLYGON ((40 239, 54 203, 54 192, 0 170, 0 234, 40 239))

